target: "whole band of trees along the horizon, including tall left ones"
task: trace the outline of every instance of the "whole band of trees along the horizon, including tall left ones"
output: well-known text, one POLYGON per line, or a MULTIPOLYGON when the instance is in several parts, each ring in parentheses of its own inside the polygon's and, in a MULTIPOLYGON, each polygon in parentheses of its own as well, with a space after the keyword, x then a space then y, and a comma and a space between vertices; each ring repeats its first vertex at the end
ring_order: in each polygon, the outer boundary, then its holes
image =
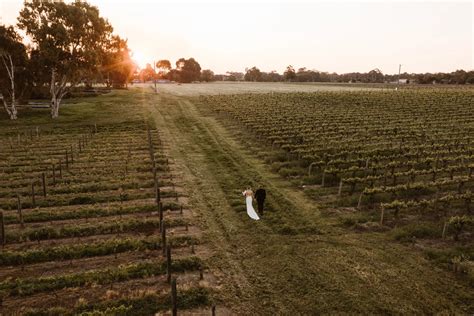
POLYGON ((257 67, 243 72, 214 74, 201 69, 194 58, 180 58, 173 68, 159 60, 137 71, 127 40, 113 34, 113 27, 97 7, 82 0, 25 1, 16 26, 0 25, 0 104, 11 119, 18 117, 17 105, 29 98, 50 99, 52 118, 59 115, 63 98, 78 86, 127 87, 132 79, 169 80, 182 83, 215 80, 251 82, 361 82, 384 83, 398 79, 419 84, 474 84, 474 71, 398 75, 379 69, 367 73, 328 73, 288 66, 283 74, 263 72, 257 67), (23 43, 18 29, 29 37, 23 43))

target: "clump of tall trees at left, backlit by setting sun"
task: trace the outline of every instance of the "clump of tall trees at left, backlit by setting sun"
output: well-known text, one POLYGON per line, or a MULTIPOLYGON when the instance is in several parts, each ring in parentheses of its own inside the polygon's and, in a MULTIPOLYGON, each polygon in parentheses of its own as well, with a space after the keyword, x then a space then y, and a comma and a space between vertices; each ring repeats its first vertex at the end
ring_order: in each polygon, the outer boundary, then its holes
POLYGON ((135 71, 127 41, 85 1, 25 1, 17 27, 0 25, 0 102, 11 119, 30 97, 50 98, 51 117, 75 86, 124 87, 135 71))

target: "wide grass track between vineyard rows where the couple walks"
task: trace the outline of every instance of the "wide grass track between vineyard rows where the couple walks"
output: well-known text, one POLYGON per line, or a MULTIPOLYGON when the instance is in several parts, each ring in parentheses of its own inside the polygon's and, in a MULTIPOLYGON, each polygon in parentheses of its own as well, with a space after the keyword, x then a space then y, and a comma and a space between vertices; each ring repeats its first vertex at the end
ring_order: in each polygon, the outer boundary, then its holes
POLYGON ((472 313, 472 289, 383 234, 334 226, 302 192, 271 173, 185 97, 140 95, 171 145, 180 181, 224 280, 220 299, 239 314, 472 313), (259 222, 241 191, 269 195, 259 222))

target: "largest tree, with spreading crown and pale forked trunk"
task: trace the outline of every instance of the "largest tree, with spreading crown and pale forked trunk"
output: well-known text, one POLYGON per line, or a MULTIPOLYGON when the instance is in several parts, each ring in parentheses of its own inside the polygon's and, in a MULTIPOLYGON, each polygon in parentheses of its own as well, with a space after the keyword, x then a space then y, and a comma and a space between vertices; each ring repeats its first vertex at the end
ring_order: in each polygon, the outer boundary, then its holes
POLYGON ((31 37, 49 69, 51 117, 62 98, 81 80, 97 73, 112 26, 87 2, 25 1, 18 26, 31 37))

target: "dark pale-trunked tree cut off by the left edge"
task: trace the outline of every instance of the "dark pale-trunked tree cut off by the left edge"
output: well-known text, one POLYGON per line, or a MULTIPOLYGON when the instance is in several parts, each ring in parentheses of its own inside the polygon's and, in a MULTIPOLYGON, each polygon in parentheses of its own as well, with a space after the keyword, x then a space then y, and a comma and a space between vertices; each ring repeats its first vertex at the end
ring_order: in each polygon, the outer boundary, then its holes
POLYGON ((18 118, 18 96, 26 89, 28 63, 25 45, 15 29, 0 25, 0 98, 12 120, 18 118))

